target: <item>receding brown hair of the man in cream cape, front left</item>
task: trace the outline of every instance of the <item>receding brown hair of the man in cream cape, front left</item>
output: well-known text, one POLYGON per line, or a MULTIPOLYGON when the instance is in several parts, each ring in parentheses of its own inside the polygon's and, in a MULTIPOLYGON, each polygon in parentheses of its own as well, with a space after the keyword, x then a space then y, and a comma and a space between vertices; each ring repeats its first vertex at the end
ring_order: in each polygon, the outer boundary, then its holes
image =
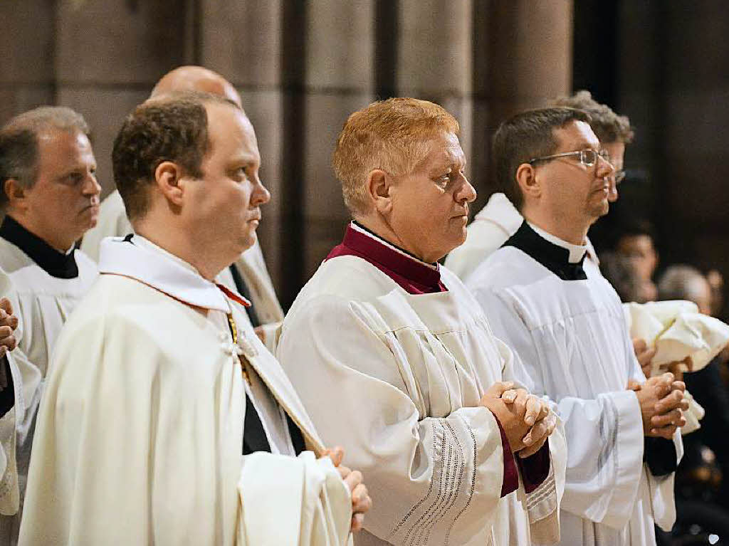
POLYGON ((176 163, 189 176, 202 176, 210 147, 205 109, 209 103, 241 110, 219 95, 187 91, 149 99, 124 120, 114 139, 112 166, 129 219, 141 218, 149 210, 149 189, 163 161, 176 163))

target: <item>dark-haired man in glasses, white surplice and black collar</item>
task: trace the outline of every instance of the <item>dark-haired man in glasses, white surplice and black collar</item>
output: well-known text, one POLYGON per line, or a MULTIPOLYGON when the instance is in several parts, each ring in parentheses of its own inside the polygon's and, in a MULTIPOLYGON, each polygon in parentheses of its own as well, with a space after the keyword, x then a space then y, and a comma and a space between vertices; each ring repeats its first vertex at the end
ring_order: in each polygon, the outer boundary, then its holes
POLYGON ((645 381, 620 300, 585 260, 614 172, 589 121, 552 108, 499 128, 497 176, 513 184, 526 220, 467 286, 521 356, 518 373, 526 369, 534 391, 558 403, 569 455, 561 543, 650 545, 654 521, 670 529, 675 518, 687 402, 671 374, 645 381), (631 380, 642 386, 628 390, 631 380))

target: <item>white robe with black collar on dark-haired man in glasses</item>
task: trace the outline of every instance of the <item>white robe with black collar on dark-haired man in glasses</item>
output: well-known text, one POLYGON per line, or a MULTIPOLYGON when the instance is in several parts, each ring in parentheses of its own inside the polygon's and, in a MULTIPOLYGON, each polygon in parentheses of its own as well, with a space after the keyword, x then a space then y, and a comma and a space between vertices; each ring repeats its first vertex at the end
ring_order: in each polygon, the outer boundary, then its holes
POLYGON ((521 356, 517 373, 558 403, 568 446, 561 544, 650 545, 654 520, 674 522, 682 443, 678 432, 675 445, 644 439, 625 389, 645 378, 620 300, 586 251, 524 222, 466 284, 521 356))

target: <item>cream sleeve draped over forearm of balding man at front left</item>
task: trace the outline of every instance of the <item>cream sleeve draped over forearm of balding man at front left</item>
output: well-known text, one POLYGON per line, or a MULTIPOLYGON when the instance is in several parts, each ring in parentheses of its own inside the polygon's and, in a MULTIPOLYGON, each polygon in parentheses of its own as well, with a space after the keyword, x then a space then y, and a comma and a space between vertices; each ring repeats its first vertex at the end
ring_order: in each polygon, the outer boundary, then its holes
POLYGON ((243 458, 238 545, 351 545, 351 497, 329 457, 243 458))

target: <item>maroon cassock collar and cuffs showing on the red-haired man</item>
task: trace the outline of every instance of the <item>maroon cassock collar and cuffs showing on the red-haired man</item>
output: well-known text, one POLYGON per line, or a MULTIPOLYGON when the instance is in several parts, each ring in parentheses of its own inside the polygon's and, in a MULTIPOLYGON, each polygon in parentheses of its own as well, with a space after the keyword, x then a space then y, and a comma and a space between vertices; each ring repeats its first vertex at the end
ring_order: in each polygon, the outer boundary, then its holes
MULTIPOLYGON (((362 260, 367 260, 375 268, 389 276, 408 294, 448 292, 448 286, 445 286, 440 279, 439 264, 429 264, 418 260, 408 251, 399 249, 393 243, 385 241, 357 222, 352 222, 347 227, 344 240, 332 249, 327 256, 327 260, 338 256, 358 256, 362 260)), ((496 423, 499 424, 504 450, 504 481, 501 496, 517 490, 519 487, 519 470, 521 470, 524 490, 531 493, 549 475, 549 440, 537 453, 526 459, 521 459, 521 457, 515 457, 511 452, 509 440, 507 440, 504 428, 499 423, 498 418, 496 418, 496 423)))

